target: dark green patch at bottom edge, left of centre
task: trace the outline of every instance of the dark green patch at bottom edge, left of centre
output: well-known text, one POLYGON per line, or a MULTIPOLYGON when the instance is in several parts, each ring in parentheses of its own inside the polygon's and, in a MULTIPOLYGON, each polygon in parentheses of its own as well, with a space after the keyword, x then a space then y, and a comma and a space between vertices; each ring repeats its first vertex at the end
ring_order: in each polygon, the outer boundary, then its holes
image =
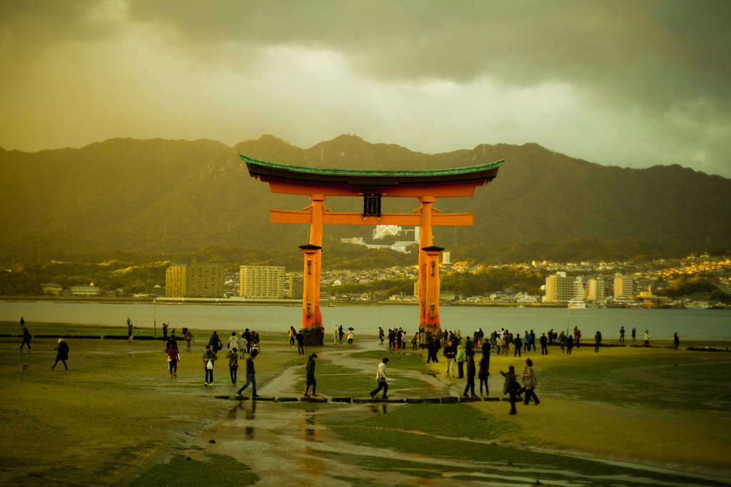
POLYGON ((207 453, 205 457, 208 461, 173 455, 170 461, 156 464, 132 480, 129 486, 199 487, 208 485, 213 479, 227 480, 237 486, 251 486, 259 481, 259 475, 251 468, 230 456, 207 453))

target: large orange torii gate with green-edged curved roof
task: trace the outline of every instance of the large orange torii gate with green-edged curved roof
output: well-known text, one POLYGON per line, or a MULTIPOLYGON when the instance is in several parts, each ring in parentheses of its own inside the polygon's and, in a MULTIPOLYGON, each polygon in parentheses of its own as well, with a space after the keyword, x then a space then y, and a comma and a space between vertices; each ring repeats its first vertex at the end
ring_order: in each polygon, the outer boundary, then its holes
POLYGON ((272 193, 309 196, 305 211, 270 210, 272 223, 308 223, 310 241, 304 253, 302 329, 308 345, 322 343, 322 313, 319 309, 322 226, 406 225, 420 226, 419 326, 435 333, 439 323, 439 253, 433 245, 432 226, 471 226, 474 213, 440 214, 433 207, 437 197, 473 196, 474 188, 493 180, 504 159, 477 166, 452 169, 380 171, 325 169, 260 161, 239 154, 251 177, 269 183, 272 193), (362 213, 331 212, 327 196, 363 196, 362 213), (381 213, 382 196, 416 198, 420 206, 412 213, 381 213))

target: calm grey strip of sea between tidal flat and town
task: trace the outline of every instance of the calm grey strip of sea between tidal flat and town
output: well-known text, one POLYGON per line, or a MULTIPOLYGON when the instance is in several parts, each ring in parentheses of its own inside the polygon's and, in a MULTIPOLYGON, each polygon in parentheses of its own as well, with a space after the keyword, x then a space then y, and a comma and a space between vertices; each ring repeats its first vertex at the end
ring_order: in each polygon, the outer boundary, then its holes
MULTIPOLYGON (((325 336, 331 337, 336 326, 355 330, 358 338, 374 338, 378 327, 384 330, 403 328, 407 334, 418 329, 419 307, 408 304, 372 304, 322 307, 325 336)), ((260 333, 286 332, 289 326, 300 328, 300 306, 276 304, 153 304, 109 302, 0 302, 0 321, 26 323, 71 323, 126 327, 129 317, 135 326, 158 329, 170 323, 170 330, 183 327, 217 330, 227 334, 248 328, 260 333)), ((681 340, 730 340, 731 313, 724 310, 644 310, 586 309, 569 310, 548 307, 477 307, 444 306, 440 308, 442 329, 460 329, 473 334, 481 328, 485 334, 493 329, 508 329, 523 334, 533 330, 537 336, 550 329, 560 332, 577 326, 583 340, 592 341, 596 331, 605 340, 619 338, 624 326, 626 341, 631 341, 632 328, 637 340, 645 330, 651 340, 673 340, 675 331, 681 340)))

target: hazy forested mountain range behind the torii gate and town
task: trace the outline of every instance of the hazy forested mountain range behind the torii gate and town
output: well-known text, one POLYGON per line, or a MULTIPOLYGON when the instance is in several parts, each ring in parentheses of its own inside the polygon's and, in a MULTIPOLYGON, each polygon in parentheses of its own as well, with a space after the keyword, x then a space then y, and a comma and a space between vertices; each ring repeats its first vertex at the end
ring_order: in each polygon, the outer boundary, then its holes
MULTIPOLYGON (((436 228, 434 243, 496 248, 517 242, 644 240, 692 247, 731 242, 731 180, 693 169, 602 166, 534 143, 478 145, 424 154, 342 135, 302 149, 273 136, 220 142, 110 139, 80 149, 24 153, 0 148, 0 257, 194 252, 209 245, 297 250, 304 225, 270 223, 268 210, 302 210, 306 196, 270 193, 239 154, 265 161, 349 169, 437 169, 505 159, 471 198, 437 199, 442 212, 475 212, 474 226, 436 228)), ((332 197, 333 211, 361 211, 332 197)), ((415 199, 383 200, 411 212, 415 199)), ((366 237, 366 226, 325 228, 323 247, 366 237)), ((299 250, 297 250, 299 252, 299 250)))

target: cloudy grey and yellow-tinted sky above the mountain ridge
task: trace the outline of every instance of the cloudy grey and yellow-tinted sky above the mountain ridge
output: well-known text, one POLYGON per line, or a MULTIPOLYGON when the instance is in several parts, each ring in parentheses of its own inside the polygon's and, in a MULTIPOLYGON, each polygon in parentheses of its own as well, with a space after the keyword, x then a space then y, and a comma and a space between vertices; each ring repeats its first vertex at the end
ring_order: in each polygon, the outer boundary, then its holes
POLYGON ((731 1, 0 0, 0 146, 340 134, 731 177, 731 1))

